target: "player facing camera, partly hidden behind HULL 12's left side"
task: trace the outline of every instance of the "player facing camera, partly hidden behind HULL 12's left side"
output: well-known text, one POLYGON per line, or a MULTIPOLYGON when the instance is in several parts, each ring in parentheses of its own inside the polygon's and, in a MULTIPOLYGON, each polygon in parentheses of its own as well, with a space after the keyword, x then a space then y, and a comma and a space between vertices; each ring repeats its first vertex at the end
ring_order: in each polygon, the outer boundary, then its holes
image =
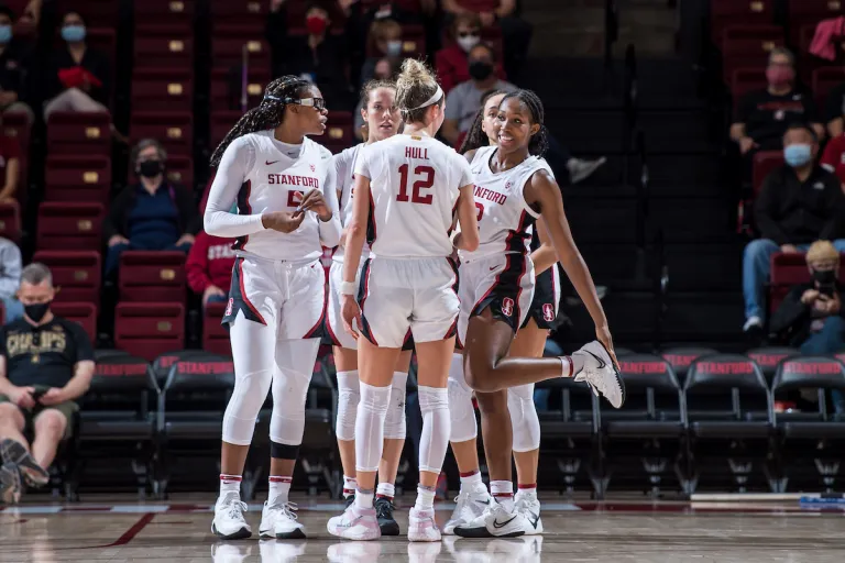
MULTIPOLYGON (((366 123, 369 136, 362 143, 334 156, 334 169, 338 178, 338 201, 341 209, 341 223, 349 225, 352 218, 352 188, 354 187, 355 162, 363 147, 383 141, 396 134, 402 124, 399 110, 396 108, 396 85, 389 80, 371 80, 361 91, 361 117, 366 123)), ((343 496, 352 503, 355 494, 355 416, 361 391, 358 378, 358 346, 355 339, 343 330, 340 314, 340 288, 343 282, 343 238, 340 246, 332 254, 329 271, 329 308, 326 327, 334 351, 334 366, 338 369, 338 419, 336 434, 340 461, 343 465, 343 496)), ((358 277, 361 277, 363 262, 370 257, 370 250, 364 244, 358 277)), ((405 445, 405 385, 408 380, 408 365, 414 350, 411 339, 403 345, 403 352, 393 372, 391 399, 384 420, 384 450, 378 464, 378 488, 376 490, 375 511, 382 536, 398 536, 399 525, 393 518, 393 496, 398 471, 399 456, 405 445)))

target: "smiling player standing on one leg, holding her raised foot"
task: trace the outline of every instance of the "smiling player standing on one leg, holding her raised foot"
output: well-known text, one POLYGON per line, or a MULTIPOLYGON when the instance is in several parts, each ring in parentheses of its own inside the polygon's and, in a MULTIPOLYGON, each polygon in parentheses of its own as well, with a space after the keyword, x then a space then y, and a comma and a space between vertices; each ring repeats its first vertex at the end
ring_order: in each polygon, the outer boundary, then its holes
MULTIPOLYGON (((453 388, 462 388, 465 394, 469 385, 475 390, 482 413, 491 493, 496 501, 490 503, 482 515, 454 528, 454 533, 462 537, 515 537, 533 526, 514 506, 508 388, 557 377, 574 377, 586 382, 596 394, 603 394, 616 408, 625 399, 607 320, 590 272, 572 241, 560 188, 549 166, 540 158, 547 145, 542 120, 542 102, 534 92, 519 90, 505 95, 496 112, 496 144, 465 155, 475 184, 481 244, 475 252, 459 251, 463 307, 458 339, 464 343, 465 384, 453 388), (586 305, 595 322, 597 341, 571 356, 508 357, 514 333, 526 322, 531 309, 535 265, 529 247, 533 224, 540 218, 540 235, 542 239, 548 236, 586 305)), ((553 264, 553 258, 546 257, 546 252, 539 256, 544 269, 553 264)), ((456 371, 453 377, 458 376, 456 371)), ((456 401, 452 408, 459 409, 465 401, 456 401)), ((523 413, 520 408, 519 415, 523 413)), ((462 418, 460 412, 454 416, 462 418)), ((520 429, 524 423, 529 422, 520 422, 520 429)), ((529 437, 525 441, 527 445, 522 444, 522 449, 539 446, 536 438, 529 437)))

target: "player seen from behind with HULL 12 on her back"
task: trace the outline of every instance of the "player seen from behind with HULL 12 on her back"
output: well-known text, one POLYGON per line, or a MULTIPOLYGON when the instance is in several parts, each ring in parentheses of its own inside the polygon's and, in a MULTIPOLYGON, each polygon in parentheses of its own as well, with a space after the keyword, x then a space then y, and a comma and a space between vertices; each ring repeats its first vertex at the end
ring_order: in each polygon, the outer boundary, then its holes
POLYGON ((328 523, 330 533, 350 540, 381 536, 373 509, 375 471, 393 372, 408 329, 417 349, 424 420, 408 539, 440 540, 434 500, 449 442, 447 379, 459 309, 458 268, 450 256, 454 247, 473 251, 478 246, 469 165, 434 139, 443 122, 443 91, 428 68, 418 60, 405 60, 396 82, 405 131, 362 148, 355 163, 340 292, 343 328, 359 344, 358 490, 345 512, 328 523), (456 212, 463 232, 450 236, 456 212), (367 239, 375 257, 364 263, 356 284, 367 239), (356 329, 364 338, 358 338, 356 329))

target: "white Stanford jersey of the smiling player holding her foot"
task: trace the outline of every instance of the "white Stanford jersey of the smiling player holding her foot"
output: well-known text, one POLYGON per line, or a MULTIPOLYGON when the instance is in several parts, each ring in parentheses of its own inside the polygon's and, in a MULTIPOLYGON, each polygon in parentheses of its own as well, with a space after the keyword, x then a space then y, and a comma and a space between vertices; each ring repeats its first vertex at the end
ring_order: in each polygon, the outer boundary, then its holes
POLYGON ((475 184, 480 244, 475 252, 459 251, 461 262, 530 251, 533 225, 540 216, 526 203, 523 189, 537 170, 551 174, 551 168, 545 159, 529 156, 509 170, 494 173, 490 168, 490 158, 496 148, 479 148, 470 165, 475 184))

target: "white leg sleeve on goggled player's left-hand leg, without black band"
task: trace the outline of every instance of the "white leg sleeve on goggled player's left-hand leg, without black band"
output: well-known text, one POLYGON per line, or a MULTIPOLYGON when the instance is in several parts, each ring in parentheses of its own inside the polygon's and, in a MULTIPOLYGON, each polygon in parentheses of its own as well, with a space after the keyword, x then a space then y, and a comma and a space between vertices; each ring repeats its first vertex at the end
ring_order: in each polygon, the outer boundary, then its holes
POLYGON ((250 445, 255 419, 267 398, 275 369, 276 331, 239 314, 229 332, 234 389, 223 415, 223 442, 250 445))

